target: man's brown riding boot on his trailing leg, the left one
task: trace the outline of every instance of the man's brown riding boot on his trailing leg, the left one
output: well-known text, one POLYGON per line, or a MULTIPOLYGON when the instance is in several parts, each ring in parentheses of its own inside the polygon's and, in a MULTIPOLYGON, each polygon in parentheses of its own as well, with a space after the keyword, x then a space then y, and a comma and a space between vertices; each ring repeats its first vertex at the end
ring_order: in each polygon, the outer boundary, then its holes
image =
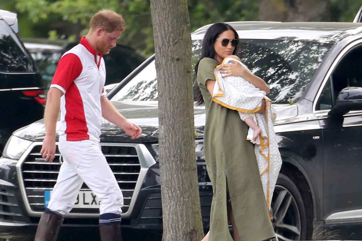
POLYGON ((34 241, 56 241, 63 220, 64 218, 60 215, 43 213, 38 223, 34 241))

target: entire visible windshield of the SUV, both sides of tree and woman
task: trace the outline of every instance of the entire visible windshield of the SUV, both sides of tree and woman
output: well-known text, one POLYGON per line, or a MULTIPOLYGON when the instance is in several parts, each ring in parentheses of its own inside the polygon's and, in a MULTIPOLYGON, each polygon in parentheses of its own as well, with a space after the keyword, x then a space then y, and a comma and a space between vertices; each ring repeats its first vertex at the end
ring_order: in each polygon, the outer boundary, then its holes
MULTIPOLYGON (((201 44, 202 40, 193 42, 193 67, 201 54, 201 44)), ((268 83, 268 97, 274 103, 289 103, 302 96, 331 46, 295 40, 241 39, 238 56, 256 76, 268 83)), ((155 61, 141 70, 111 100, 157 100, 155 61)))

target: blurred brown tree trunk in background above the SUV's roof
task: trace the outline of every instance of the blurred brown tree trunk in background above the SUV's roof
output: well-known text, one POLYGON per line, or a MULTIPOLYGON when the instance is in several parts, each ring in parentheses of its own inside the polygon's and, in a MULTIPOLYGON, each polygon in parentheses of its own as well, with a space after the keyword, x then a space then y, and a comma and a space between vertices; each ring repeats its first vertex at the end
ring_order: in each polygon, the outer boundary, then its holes
POLYGON ((330 0, 259 0, 261 21, 330 21, 330 0))

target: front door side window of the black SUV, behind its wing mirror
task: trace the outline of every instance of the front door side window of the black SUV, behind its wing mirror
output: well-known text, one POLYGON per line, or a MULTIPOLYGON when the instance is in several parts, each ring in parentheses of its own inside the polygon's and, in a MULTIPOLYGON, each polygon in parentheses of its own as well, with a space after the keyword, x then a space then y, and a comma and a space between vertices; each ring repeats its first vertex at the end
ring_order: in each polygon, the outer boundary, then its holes
POLYGON ((316 110, 331 109, 346 87, 362 87, 362 46, 347 52, 334 68, 317 100, 316 110))

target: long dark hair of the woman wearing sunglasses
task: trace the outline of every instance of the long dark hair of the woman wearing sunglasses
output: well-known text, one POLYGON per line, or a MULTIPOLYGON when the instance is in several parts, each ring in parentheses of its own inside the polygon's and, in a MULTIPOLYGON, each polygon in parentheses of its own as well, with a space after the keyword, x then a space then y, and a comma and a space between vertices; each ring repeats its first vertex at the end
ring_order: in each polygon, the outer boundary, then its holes
MULTIPOLYGON (((235 38, 239 39, 239 35, 236 33, 235 29, 228 25, 227 23, 215 23, 209 27, 209 29, 206 31, 205 36, 202 40, 202 52, 201 57, 197 61, 195 65, 195 74, 197 76, 197 69, 199 67, 200 60, 203 58, 211 58, 214 59, 216 52, 214 48, 215 40, 226 30, 231 30, 235 34, 235 38)), ((233 55, 237 53, 239 49, 239 46, 235 48, 235 50, 232 52, 233 55)), ((202 106, 204 104, 204 100, 202 98, 201 90, 199 86, 196 84, 194 85, 194 92, 195 94, 195 101, 197 106, 202 106)))

